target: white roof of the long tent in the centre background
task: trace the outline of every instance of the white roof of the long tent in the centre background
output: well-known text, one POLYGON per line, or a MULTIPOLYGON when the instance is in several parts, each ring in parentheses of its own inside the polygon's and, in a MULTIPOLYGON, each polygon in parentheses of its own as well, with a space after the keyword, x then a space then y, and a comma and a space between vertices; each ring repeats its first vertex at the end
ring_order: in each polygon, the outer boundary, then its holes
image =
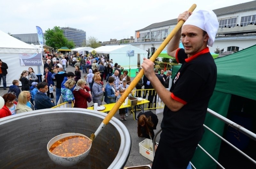
MULTIPOLYGON (((134 53, 137 53, 137 54, 148 54, 147 51, 132 45, 101 46, 99 48, 95 48, 94 50, 97 53, 102 53, 102 54, 111 54, 111 53, 125 54, 128 50, 134 50, 134 53)), ((89 52, 92 52, 92 50, 89 50, 89 52)))

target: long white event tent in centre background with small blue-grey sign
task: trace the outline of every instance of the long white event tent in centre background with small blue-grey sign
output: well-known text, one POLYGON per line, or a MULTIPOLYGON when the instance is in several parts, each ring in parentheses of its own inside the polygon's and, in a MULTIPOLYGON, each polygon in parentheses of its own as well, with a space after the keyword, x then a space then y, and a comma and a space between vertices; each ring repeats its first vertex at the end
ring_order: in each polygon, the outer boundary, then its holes
MULTIPOLYGON (((97 54, 109 55, 109 59, 113 59, 113 63, 121 66, 137 65, 143 62, 144 57, 148 57, 148 52, 132 45, 113 45, 101 46, 94 49, 97 54), (134 56, 128 56, 127 51, 134 51, 134 56)), ((92 52, 92 50, 89 50, 92 52)))

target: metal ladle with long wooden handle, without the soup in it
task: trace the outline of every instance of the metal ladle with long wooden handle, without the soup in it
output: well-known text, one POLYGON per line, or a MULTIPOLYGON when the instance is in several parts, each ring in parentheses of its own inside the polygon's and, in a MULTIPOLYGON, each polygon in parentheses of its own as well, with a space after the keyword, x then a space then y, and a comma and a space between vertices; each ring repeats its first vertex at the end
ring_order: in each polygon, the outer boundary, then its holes
MULTIPOLYGON (((193 4, 190 8, 189 8, 189 12, 193 12, 196 8, 196 4, 193 4)), ((179 31, 179 29, 181 28, 181 26, 184 24, 185 21, 180 20, 177 25, 174 27, 174 29, 172 30, 172 32, 166 37, 166 39, 163 41, 163 43, 160 45, 160 47, 156 50, 156 52, 150 57, 150 60, 152 62, 154 62, 156 60, 156 58, 158 57, 158 55, 163 51, 163 49, 165 48, 165 46, 169 43, 169 41, 173 38, 173 36, 179 31)), ((98 127, 98 129, 95 131, 95 133, 91 134, 91 141, 93 142, 93 140, 99 135, 99 133, 104 129, 104 127, 108 124, 108 122, 111 120, 111 118, 116 114, 117 110, 119 109, 119 107, 122 105, 122 103, 124 102, 124 100, 126 99, 126 97, 132 92, 132 89, 135 87, 135 85, 140 81, 140 79, 142 78, 142 76, 144 75, 144 70, 140 70, 140 72, 138 73, 138 75, 132 80, 132 83, 129 85, 129 87, 125 90, 124 94, 121 96, 121 98, 119 100, 117 100, 116 104, 114 105, 114 107, 110 110, 110 112, 108 113, 108 115, 104 118, 104 120, 101 122, 100 126, 98 127)), ((77 134, 77 133, 75 133, 77 134)), ((75 136, 75 135, 74 135, 75 136)), ((55 137, 54 137, 55 138, 55 137)), ((48 143, 49 144, 49 143, 48 143)), ((47 147, 48 149, 48 147, 47 147)), ((91 147, 90 147, 91 149, 91 147)), ((90 149, 88 150, 88 153, 90 151, 90 149)), ((62 166, 72 166, 72 165, 76 165, 77 163, 81 162, 87 155, 83 156, 83 158, 81 158, 81 155, 78 155, 76 157, 70 157, 72 159, 70 159, 69 161, 66 160, 67 163, 65 163, 65 165, 63 163, 60 163, 61 159, 58 158, 54 158, 54 163, 62 165, 62 166)), ((54 155, 51 153, 51 155, 54 155)), ((56 155, 54 155, 56 156, 56 155)), ((51 158, 52 159, 52 158, 51 158)))

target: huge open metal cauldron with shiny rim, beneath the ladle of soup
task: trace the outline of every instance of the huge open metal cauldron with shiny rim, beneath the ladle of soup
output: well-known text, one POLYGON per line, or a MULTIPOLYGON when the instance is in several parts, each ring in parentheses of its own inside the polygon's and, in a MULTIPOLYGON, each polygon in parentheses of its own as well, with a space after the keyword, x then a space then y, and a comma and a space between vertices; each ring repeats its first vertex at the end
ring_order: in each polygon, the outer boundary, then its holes
MULTIPOLYGON (((89 136, 106 114, 80 108, 55 108, 0 119, 0 168, 64 168, 52 162, 47 143, 63 133, 89 136)), ((115 117, 92 142, 89 155, 68 168, 123 168, 131 150, 131 136, 115 117)))

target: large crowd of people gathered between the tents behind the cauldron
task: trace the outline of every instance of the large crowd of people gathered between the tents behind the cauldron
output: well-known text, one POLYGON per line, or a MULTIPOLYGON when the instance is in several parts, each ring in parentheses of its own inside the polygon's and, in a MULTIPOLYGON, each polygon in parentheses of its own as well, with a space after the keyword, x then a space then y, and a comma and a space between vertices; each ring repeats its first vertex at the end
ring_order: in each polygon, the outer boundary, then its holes
MULTIPOLYGON (((113 64, 113 61, 104 55, 77 57, 68 53, 63 55, 48 52, 44 55, 43 60, 42 82, 36 82, 38 77, 32 67, 23 70, 19 80, 13 80, 13 85, 7 92, 8 97, 5 98, 5 104, 9 110, 3 107, 1 111, 6 111, 3 117, 7 114, 51 108, 63 102, 67 102, 69 106, 73 102, 73 106, 79 108, 87 108, 91 101, 98 103, 98 106, 102 105, 103 100, 106 104, 115 103, 131 83, 129 72, 127 70, 122 71, 121 65, 113 64), (74 72, 66 72, 68 66, 74 67, 74 72), (106 84, 103 80, 106 80, 106 84), (20 82, 21 90, 19 88, 20 82), (19 96, 24 95, 24 92, 28 95, 27 102, 24 99, 19 101, 19 96), (54 92, 56 99, 54 99, 54 92), (9 94, 14 95, 15 98, 9 97, 9 94)), ((163 75, 157 76, 160 78, 163 75)), ((136 89, 141 89, 142 86, 141 79, 136 85, 136 89)), ((143 97, 146 95, 147 92, 144 92, 143 97)), ((136 97, 141 97, 141 91, 136 93, 136 97)), ((119 114, 121 121, 127 120, 128 108, 120 109, 119 114)))

